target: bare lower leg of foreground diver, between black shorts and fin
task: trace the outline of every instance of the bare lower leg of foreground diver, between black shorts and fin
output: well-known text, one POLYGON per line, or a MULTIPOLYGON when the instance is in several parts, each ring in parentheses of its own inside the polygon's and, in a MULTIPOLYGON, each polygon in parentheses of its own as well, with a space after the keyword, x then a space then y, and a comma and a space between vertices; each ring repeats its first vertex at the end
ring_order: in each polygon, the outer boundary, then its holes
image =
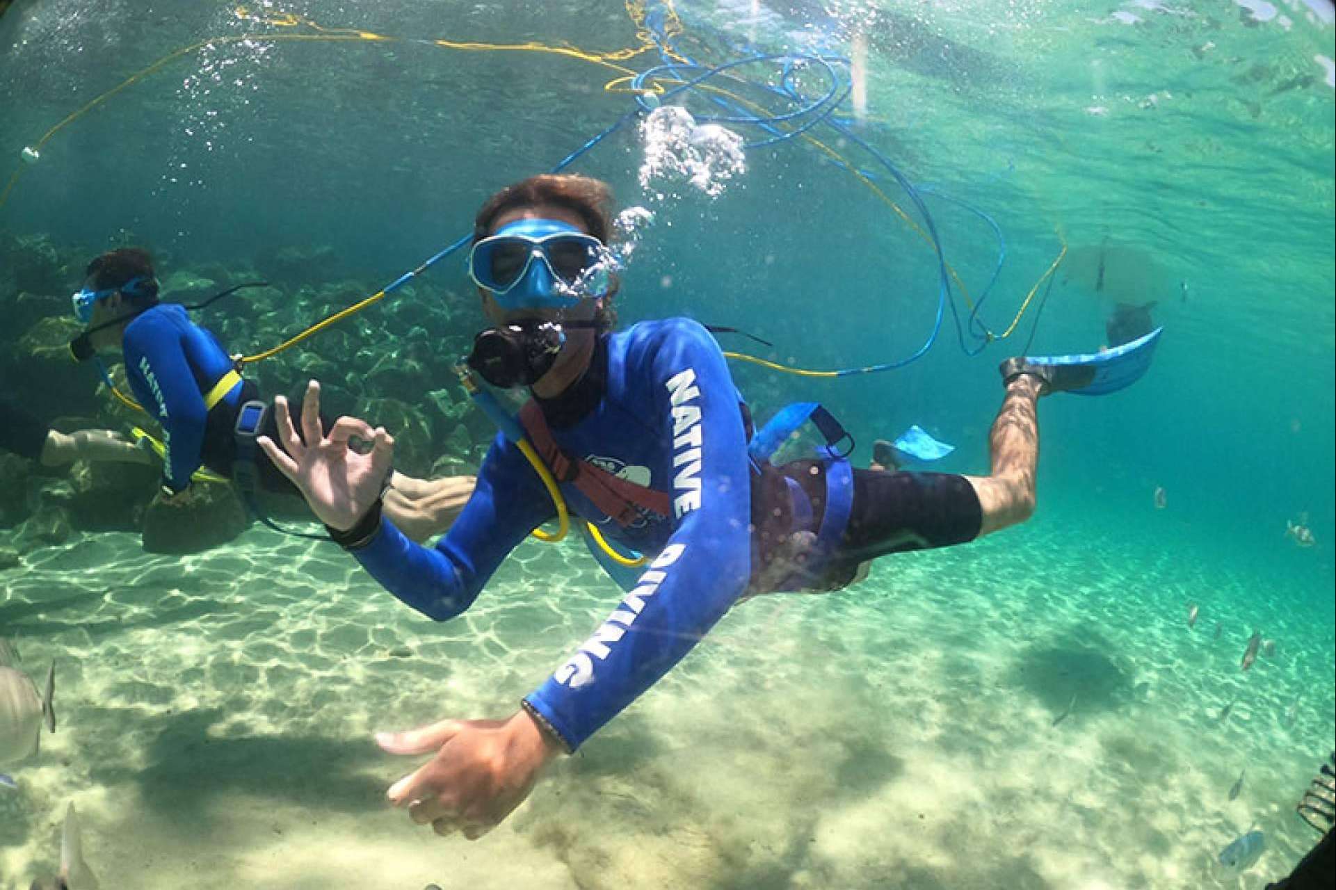
POLYGON ((1018 374, 1007 384, 1002 410, 993 421, 989 450, 993 472, 989 476, 966 476, 983 510, 979 537, 1015 525, 1034 513, 1034 472, 1039 462, 1041 381, 1031 374, 1018 374))

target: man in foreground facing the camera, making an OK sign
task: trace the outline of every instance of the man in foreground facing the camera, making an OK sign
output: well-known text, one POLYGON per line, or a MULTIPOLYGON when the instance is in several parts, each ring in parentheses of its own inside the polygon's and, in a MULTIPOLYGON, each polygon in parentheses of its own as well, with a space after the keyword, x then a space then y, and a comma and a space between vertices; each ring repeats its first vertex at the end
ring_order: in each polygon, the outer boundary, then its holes
POLYGON ((442 835, 474 839, 500 823, 550 758, 645 692, 744 596, 835 589, 883 553, 961 544, 1027 518, 1035 405, 1067 388, 1061 370, 1026 359, 1003 366, 987 477, 852 470, 835 448, 843 430, 815 405, 790 406, 754 433, 705 327, 671 318, 612 333, 617 282, 593 274, 611 234, 609 202, 601 182, 544 175, 478 211, 470 275, 493 326, 468 362, 532 398, 518 418, 524 436, 497 436, 473 497, 436 547, 409 541, 382 516, 393 438, 353 417, 326 429, 315 381, 301 433, 279 398, 283 449, 259 440, 331 537, 436 620, 468 609, 501 560, 558 514, 558 498, 619 549, 648 559, 608 620, 510 718, 377 735, 393 754, 434 754, 389 796, 442 835), (831 448, 771 465, 774 444, 803 418, 831 448), (371 448, 354 450, 353 438, 371 448), (540 481, 549 472, 560 494, 540 481))

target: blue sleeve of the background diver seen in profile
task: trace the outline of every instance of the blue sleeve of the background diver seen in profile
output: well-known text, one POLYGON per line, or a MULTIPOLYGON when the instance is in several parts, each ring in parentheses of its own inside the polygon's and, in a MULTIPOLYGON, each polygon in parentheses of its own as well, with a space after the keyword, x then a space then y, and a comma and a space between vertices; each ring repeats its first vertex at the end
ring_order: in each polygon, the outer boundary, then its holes
POLYGON ((208 409, 180 331, 156 313, 146 313, 126 327, 122 347, 135 397, 163 428, 163 484, 184 490, 202 462, 208 409))

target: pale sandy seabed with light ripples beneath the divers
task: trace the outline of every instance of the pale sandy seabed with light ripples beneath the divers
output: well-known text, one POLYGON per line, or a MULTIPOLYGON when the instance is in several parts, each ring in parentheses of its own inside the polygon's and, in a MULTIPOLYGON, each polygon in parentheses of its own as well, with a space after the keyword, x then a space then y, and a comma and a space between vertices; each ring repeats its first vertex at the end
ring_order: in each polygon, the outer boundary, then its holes
POLYGON ((1256 887, 1315 841, 1292 810, 1336 720, 1301 596, 1043 523, 890 557, 736 607, 470 843, 386 804, 425 758, 371 734, 510 714, 619 599, 578 544, 525 544, 436 624, 327 544, 80 536, 0 575, 60 716, 0 792, 0 887, 53 869, 69 800, 107 890, 1256 887), (1253 625, 1277 653, 1241 674, 1253 625))

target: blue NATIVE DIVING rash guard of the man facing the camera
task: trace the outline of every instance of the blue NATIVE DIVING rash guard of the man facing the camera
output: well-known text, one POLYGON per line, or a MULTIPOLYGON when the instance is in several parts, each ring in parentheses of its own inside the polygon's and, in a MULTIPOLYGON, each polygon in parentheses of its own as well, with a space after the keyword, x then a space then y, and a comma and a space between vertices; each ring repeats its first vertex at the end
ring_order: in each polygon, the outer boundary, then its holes
MULTIPOLYGON (((689 319, 608 335, 601 394, 569 425, 549 424, 572 458, 668 492, 671 514, 621 528, 570 484, 572 513, 653 555, 639 584, 525 700, 573 751, 648 690, 717 621, 751 571, 751 477, 740 396, 719 345, 689 319)), ((354 551, 371 576, 420 612, 464 612, 501 560, 556 510, 520 450, 497 436, 464 512, 434 548, 387 520, 354 551)))

